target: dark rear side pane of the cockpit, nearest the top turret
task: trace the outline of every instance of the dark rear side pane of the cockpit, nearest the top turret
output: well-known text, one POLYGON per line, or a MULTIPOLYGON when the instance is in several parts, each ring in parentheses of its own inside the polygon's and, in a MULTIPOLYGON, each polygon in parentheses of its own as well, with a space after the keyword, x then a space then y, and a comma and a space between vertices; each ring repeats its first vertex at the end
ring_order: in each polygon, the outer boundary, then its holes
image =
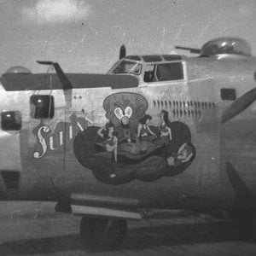
POLYGON ((156 68, 158 81, 183 79, 183 64, 181 62, 159 64, 156 68))

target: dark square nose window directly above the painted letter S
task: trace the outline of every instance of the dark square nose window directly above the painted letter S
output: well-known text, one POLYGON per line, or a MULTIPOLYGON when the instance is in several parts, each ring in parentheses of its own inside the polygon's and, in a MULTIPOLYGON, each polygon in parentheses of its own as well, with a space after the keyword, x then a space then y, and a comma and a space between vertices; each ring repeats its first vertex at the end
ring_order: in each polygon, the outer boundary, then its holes
POLYGON ((54 97, 50 95, 32 95, 30 98, 31 116, 34 119, 52 119, 55 114, 54 97))

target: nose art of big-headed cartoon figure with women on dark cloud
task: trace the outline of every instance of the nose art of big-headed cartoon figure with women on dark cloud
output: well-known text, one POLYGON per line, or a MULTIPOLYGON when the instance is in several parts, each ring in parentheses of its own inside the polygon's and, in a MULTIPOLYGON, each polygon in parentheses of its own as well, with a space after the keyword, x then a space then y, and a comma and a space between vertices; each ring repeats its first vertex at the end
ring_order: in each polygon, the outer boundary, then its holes
POLYGON ((160 125, 150 125, 148 102, 121 92, 103 102, 108 123, 79 132, 73 150, 79 163, 102 183, 154 181, 183 172, 195 159, 189 127, 160 112, 160 125))

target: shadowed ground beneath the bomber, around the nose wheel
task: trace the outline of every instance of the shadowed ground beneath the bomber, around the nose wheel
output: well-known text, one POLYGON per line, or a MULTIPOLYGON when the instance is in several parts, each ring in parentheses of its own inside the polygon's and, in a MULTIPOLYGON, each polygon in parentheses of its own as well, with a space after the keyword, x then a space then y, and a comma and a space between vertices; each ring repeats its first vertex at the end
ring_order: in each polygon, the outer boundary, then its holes
POLYGON ((54 207, 1 201, 0 255, 256 255, 256 243, 242 226, 191 212, 172 212, 172 218, 150 223, 129 221, 119 250, 87 252, 80 218, 55 213, 54 207))

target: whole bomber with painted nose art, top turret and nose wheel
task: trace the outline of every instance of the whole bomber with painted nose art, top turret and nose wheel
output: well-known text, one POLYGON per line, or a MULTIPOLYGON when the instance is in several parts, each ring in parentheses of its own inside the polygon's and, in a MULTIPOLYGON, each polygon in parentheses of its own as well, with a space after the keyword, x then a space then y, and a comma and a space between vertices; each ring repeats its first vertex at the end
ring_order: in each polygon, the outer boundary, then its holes
MULTIPOLYGON (((107 74, 12 67, 0 84, 0 196, 56 201, 115 247, 152 209, 256 210, 256 58, 239 38, 125 55, 107 74)), ((250 213, 249 213, 250 212, 250 213)))

